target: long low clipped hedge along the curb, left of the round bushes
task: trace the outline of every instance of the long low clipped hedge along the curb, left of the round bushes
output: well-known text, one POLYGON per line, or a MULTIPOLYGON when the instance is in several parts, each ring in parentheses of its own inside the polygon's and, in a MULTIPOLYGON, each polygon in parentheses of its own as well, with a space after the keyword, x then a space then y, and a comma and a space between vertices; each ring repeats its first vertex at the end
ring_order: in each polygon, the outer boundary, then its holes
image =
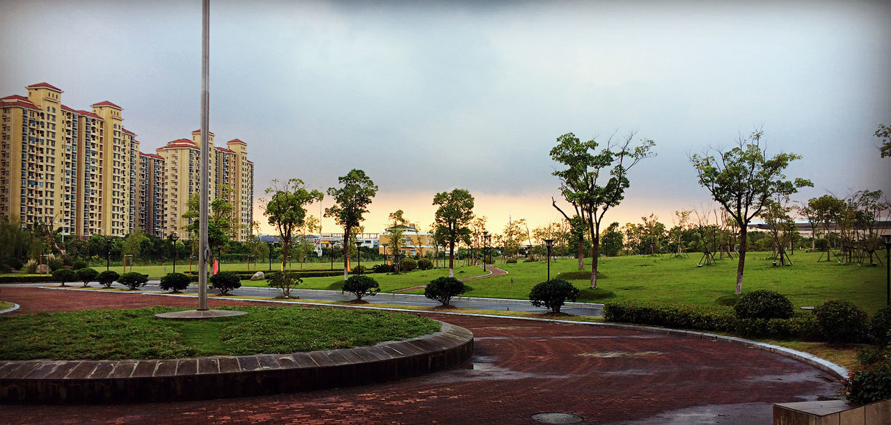
POLYGON ((732 308, 676 306, 634 301, 608 301, 603 305, 603 317, 608 322, 649 324, 699 331, 731 331, 736 324, 732 308))

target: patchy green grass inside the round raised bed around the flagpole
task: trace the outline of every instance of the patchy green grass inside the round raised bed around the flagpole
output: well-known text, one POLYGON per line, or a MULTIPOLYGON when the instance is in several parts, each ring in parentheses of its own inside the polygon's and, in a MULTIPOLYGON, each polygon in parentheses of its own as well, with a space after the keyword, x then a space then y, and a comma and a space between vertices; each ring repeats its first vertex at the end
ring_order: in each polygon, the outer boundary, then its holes
MULTIPOLYGON (((169 307, 0 317, 0 359, 163 359, 277 354, 372 345, 439 330, 433 320, 380 310, 221 307, 248 315, 213 321, 157 319, 169 307)), ((181 308, 180 308, 181 309, 181 308)))

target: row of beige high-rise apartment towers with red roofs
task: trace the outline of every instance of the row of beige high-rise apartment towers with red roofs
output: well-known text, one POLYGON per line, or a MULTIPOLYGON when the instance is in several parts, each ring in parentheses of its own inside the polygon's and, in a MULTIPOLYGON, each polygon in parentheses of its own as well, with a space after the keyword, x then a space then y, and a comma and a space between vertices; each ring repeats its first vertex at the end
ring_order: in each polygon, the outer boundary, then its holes
MULTIPOLYGON (((0 216, 23 225, 52 223, 65 234, 126 236, 135 229, 187 238, 180 218, 198 192, 200 131, 143 153, 123 127, 122 108, 98 102, 92 110, 61 103, 58 87, 39 83, 28 96, 0 98, 0 216)), ((210 190, 233 204, 246 241, 253 222, 253 163, 247 143, 213 146, 210 190), (227 188, 227 189, 224 189, 227 188)))

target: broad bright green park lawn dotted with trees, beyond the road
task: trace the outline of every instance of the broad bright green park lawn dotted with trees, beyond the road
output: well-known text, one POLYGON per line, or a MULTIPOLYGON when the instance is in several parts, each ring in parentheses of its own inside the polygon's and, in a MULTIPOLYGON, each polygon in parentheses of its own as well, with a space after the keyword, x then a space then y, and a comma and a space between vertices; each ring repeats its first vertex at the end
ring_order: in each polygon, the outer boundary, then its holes
MULTIPOLYGON (((817 306, 829 299, 843 299, 862 306, 870 314, 885 306, 885 267, 857 265, 839 266, 835 262, 816 260, 819 253, 797 252, 792 256, 795 266, 774 267, 768 253, 750 252, 746 257, 743 276, 743 292, 752 290, 776 290, 785 294, 795 306, 817 306)), ((582 290, 579 301, 603 302, 608 300, 658 301, 681 304, 713 305, 722 296, 732 295, 736 285, 737 260, 719 260, 715 266, 697 267, 701 255, 690 257, 609 257, 599 264, 601 278, 598 289, 591 290, 590 273, 577 272, 577 261, 559 259, 552 261, 552 278, 563 274, 582 290), (579 279, 581 277, 581 279, 579 279)), ((585 270, 590 270, 590 260, 585 260, 585 270)), ((529 290, 547 275, 544 261, 534 263, 504 264, 496 266, 508 274, 467 282, 470 297, 526 299, 529 290), (512 280, 512 282, 511 282, 512 280)), ((392 291, 426 284, 438 276, 446 275, 446 269, 413 271, 400 275, 372 274, 383 291, 392 291)), ((457 277, 482 274, 479 266, 465 266, 456 270, 457 277), (460 273, 463 271, 464 273, 460 273)), ((342 279, 307 278, 298 288, 339 289, 342 279)), ((266 286, 265 281, 242 282, 254 286, 266 286)), ((409 293, 423 293, 413 290, 409 293)))

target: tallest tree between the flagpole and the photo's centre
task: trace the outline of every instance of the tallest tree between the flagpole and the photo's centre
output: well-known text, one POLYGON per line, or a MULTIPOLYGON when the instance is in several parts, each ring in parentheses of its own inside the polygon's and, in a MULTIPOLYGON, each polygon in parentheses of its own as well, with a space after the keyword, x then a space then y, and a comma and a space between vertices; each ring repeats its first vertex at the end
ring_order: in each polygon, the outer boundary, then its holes
MULTIPOLYGON (((359 225, 363 215, 368 212, 368 204, 378 192, 378 186, 365 176, 361 169, 351 169, 347 176, 338 177, 342 187, 331 187, 328 195, 334 198, 334 205, 325 208, 325 217, 333 217, 335 223, 343 226, 343 240, 350 240, 350 231, 359 225)), ((349 245, 343 245, 343 279, 349 277, 349 245)))

